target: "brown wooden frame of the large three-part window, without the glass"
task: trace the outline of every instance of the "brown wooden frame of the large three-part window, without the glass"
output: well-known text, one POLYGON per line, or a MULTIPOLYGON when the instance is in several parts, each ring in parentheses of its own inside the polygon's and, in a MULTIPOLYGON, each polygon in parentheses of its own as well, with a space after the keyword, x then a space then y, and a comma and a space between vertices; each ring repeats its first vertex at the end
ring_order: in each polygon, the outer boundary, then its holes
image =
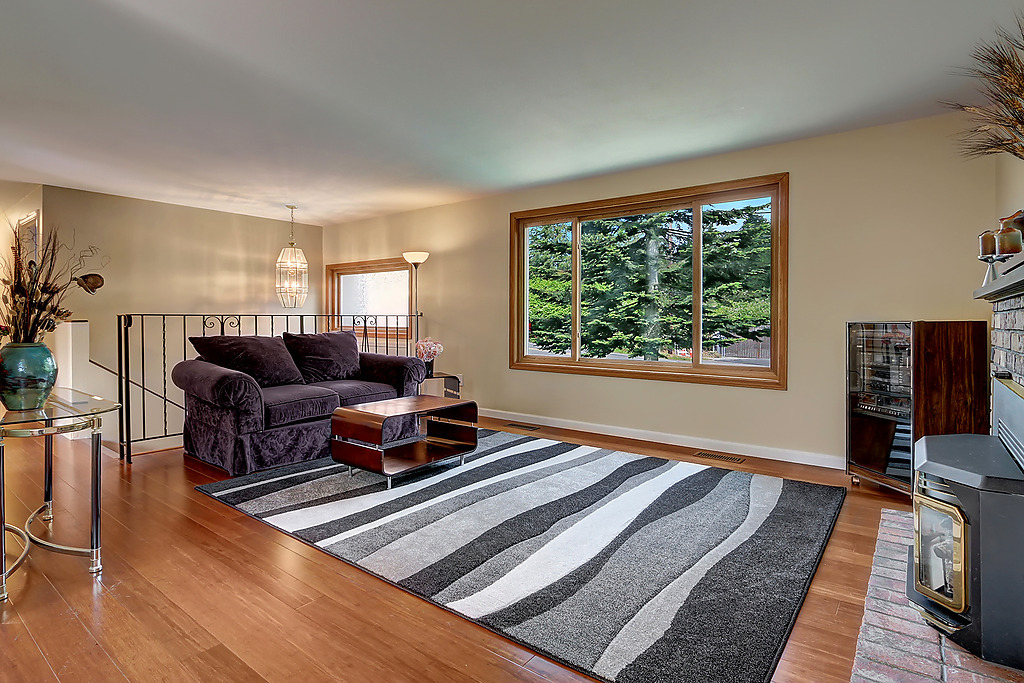
POLYGON ((509 368, 572 375, 668 380, 699 384, 784 390, 787 373, 790 174, 775 173, 694 187, 682 187, 595 202, 517 211, 510 214, 509 368), (700 205, 771 197, 771 358, 768 368, 700 362, 702 278, 700 205), (690 364, 654 360, 589 358, 580 355, 581 264, 580 224, 600 216, 630 215, 693 206, 693 360, 690 364), (570 355, 527 355, 526 346, 526 228, 558 222, 572 224, 572 344, 570 355), (700 314, 697 314, 698 311, 700 314))

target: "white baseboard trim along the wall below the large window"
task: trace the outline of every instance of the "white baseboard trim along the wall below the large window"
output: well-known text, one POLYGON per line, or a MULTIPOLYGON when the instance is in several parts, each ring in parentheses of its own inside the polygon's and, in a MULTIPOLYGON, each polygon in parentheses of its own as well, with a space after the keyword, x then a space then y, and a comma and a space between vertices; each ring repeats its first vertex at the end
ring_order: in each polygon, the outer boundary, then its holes
POLYGON ((646 431, 643 429, 632 429, 630 427, 616 427, 613 425, 598 425, 590 422, 580 422, 577 420, 562 420, 560 418, 549 418, 541 415, 529 415, 527 413, 512 413, 510 411, 495 411, 481 408, 480 415, 497 420, 508 420, 510 422, 527 422, 545 427, 558 427, 561 429, 574 429, 577 431, 594 432, 606 436, 622 436, 624 438, 635 438, 642 441, 654 441, 655 443, 671 443, 673 445, 685 445, 691 449, 703 451, 724 451, 734 453, 739 456, 750 456, 751 458, 764 458, 766 460, 777 460, 784 463, 797 463, 800 465, 814 465, 815 467, 827 467, 835 470, 846 469, 846 459, 841 456, 829 456, 824 453, 811 453, 809 451, 791 451, 788 449, 774 449, 767 445, 757 445, 754 443, 736 443, 734 441, 720 441, 718 439, 702 438, 699 436, 686 436, 685 434, 670 434, 668 432, 646 431))

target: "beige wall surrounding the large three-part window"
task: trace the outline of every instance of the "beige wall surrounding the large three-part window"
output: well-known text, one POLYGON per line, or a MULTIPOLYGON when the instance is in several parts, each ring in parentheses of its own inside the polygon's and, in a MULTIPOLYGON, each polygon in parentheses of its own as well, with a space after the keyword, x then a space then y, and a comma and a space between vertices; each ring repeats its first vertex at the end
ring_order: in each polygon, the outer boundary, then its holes
POLYGON ((972 292, 997 169, 958 155, 964 125, 947 115, 327 226, 324 257, 431 252, 420 269, 421 336, 444 343, 438 368, 463 373, 481 408, 841 466, 846 322, 989 315, 972 292), (510 212, 781 171, 791 174, 787 391, 509 370, 510 212))

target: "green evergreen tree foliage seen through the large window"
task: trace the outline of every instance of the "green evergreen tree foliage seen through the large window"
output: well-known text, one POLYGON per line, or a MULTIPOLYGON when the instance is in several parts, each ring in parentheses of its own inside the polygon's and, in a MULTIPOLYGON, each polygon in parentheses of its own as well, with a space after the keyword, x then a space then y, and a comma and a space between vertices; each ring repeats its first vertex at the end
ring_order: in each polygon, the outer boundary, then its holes
MULTIPOLYGON (((769 208, 705 207, 703 341, 727 345, 768 334, 769 208)), ((529 343, 571 347, 569 223, 531 227, 529 343)), ((690 209, 581 224, 581 351, 584 356, 656 360, 692 346, 693 217, 690 209)))

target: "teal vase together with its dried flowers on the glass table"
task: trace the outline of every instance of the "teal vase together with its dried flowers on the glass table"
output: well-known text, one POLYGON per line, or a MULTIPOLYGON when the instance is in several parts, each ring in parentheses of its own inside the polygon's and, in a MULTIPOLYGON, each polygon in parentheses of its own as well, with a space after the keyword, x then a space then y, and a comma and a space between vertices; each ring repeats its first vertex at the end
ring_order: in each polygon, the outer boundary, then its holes
POLYGON ((9 259, 0 260, 0 339, 10 338, 0 349, 0 401, 7 410, 31 411, 46 402, 56 380, 56 361, 43 336, 71 317, 63 301, 72 286, 89 294, 102 287, 98 273, 79 274, 100 254, 95 247, 74 253, 56 228, 46 232, 35 255, 14 230, 10 251, 9 259))

